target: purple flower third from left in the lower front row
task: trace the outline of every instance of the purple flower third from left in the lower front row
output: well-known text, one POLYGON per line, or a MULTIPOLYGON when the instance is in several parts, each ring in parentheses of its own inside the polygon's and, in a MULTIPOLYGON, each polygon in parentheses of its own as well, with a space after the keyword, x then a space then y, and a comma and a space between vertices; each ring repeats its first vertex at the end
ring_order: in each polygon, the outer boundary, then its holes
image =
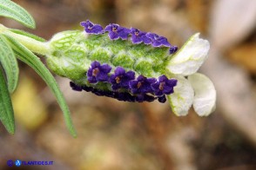
POLYGON ((129 87, 131 88, 132 94, 145 94, 152 93, 152 83, 156 82, 155 78, 146 78, 143 75, 139 75, 137 80, 130 81, 129 87))

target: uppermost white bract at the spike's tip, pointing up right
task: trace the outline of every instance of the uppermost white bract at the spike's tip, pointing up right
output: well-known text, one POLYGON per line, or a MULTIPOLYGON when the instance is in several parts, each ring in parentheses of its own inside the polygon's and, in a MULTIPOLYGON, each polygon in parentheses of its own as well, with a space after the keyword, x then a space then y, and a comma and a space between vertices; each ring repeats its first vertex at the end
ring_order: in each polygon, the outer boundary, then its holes
POLYGON ((205 62, 209 49, 210 43, 197 33, 172 56, 166 69, 175 75, 192 75, 205 62))

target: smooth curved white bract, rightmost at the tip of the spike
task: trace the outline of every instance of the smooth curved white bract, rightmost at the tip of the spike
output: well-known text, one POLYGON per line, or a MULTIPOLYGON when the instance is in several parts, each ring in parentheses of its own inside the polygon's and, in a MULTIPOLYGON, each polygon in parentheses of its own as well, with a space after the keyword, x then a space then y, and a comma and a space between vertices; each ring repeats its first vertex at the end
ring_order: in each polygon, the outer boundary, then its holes
POLYGON ((195 73, 188 76, 195 91, 193 108, 200 116, 211 114, 216 106, 216 90, 212 81, 205 75, 195 73))

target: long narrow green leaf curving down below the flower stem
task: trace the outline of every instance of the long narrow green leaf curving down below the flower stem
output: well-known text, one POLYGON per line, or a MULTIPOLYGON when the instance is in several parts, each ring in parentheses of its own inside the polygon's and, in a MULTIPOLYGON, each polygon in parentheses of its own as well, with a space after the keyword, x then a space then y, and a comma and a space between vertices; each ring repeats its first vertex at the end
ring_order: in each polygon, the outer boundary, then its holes
POLYGON ((76 137, 77 133, 71 121, 70 110, 66 104, 66 101, 64 100, 64 95, 60 91, 56 80, 51 75, 51 72, 44 66, 44 63, 41 62, 37 58, 37 56, 35 56, 29 49, 25 48, 24 45, 17 42, 14 38, 10 36, 5 35, 5 37, 7 37, 8 41, 10 42, 10 46, 17 55, 17 58, 22 62, 28 64, 32 69, 34 69, 37 74, 44 79, 44 82, 46 82, 47 85, 51 88, 51 91, 57 98, 60 108, 62 108, 62 111, 64 112, 64 119, 68 129, 70 130, 71 134, 76 137))

